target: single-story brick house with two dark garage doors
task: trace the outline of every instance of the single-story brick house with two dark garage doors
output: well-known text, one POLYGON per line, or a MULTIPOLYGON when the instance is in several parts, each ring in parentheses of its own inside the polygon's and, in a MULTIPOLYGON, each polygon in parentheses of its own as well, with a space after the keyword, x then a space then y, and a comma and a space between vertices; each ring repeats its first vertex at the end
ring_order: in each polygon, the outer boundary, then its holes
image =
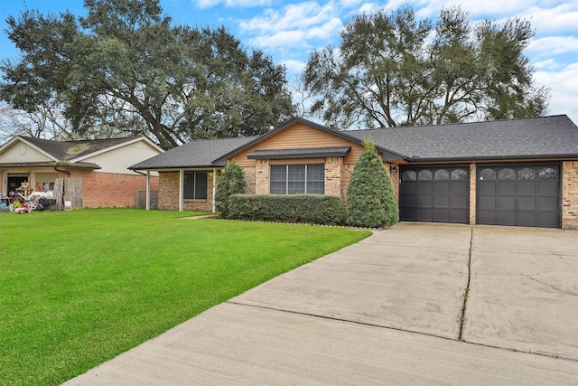
POLYGON ((159 208, 213 210, 214 175, 235 159, 247 192, 345 200, 372 138, 401 221, 578 229, 578 127, 566 116, 334 131, 294 118, 260 137, 199 140, 130 168, 160 175, 159 208))

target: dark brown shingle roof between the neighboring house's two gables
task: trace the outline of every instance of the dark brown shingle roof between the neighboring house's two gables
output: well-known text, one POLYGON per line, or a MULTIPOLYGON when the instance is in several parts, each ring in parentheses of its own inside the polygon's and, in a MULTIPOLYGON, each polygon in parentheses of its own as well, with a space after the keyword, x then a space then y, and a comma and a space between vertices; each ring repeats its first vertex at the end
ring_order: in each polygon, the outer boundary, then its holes
POLYGON ((59 161, 68 161, 82 155, 96 153, 107 147, 117 146, 135 139, 134 137, 93 139, 79 141, 54 141, 35 137, 21 137, 24 141, 42 149, 59 161))

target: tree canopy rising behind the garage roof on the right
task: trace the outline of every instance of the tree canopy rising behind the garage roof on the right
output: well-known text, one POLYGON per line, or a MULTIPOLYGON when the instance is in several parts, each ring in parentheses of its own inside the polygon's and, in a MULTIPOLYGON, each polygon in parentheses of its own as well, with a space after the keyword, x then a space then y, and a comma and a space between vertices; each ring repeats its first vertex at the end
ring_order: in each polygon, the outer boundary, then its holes
POLYGON ((549 89, 534 85, 524 55, 533 34, 527 20, 472 23, 460 7, 435 21, 409 6, 361 14, 339 47, 311 53, 311 114, 340 129, 544 115, 549 89))

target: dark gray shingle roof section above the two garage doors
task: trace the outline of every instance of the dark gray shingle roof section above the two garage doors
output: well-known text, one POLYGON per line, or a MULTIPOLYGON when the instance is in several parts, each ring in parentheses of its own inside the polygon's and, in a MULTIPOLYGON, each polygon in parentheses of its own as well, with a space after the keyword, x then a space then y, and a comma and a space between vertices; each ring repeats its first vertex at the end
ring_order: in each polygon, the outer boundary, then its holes
POLYGON ((411 161, 578 156, 578 127, 565 115, 347 133, 411 161))

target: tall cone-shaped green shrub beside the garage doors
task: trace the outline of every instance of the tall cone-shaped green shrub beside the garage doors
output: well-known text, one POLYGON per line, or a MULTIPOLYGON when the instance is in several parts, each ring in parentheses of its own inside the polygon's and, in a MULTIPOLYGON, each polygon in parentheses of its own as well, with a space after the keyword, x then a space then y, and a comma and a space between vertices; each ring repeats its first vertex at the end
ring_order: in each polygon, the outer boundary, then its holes
POLYGON ((347 187, 347 221, 357 227, 388 227, 399 218, 394 187, 373 140, 364 140, 363 146, 347 187))

